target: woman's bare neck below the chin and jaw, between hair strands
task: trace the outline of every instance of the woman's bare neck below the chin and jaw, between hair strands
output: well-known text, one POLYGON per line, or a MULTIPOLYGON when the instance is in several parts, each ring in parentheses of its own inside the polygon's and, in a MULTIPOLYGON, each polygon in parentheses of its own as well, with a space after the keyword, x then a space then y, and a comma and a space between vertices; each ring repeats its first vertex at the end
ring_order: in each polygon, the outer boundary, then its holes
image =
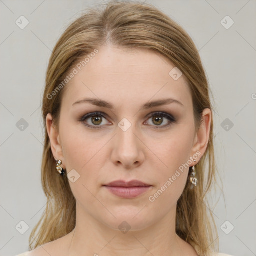
POLYGON ((68 255, 130 256, 132 251, 132 256, 183 256, 185 246, 190 246, 176 235, 173 212, 143 230, 131 228, 127 232, 110 228, 91 215, 81 213, 79 207, 76 216, 76 227, 69 234, 68 255))

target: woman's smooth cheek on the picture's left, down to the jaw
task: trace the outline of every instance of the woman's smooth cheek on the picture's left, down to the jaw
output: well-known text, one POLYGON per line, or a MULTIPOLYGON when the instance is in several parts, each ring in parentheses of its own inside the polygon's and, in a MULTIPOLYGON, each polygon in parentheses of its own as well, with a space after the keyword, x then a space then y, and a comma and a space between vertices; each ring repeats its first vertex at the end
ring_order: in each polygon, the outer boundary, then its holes
POLYGON ((96 185, 100 180, 97 171, 100 166, 96 159, 102 145, 93 141, 84 132, 79 132, 79 129, 68 126, 63 129, 62 137, 64 137, 61 143, 68 182, 74 197, 82 207, 86 208, 86 205, 92 208, 98 207, 97 200, 92 194, 95 194, 96 185), (74 176, 74 180, 71 176, 74 176), (82 202, 86 202, 86 205, 82 202))

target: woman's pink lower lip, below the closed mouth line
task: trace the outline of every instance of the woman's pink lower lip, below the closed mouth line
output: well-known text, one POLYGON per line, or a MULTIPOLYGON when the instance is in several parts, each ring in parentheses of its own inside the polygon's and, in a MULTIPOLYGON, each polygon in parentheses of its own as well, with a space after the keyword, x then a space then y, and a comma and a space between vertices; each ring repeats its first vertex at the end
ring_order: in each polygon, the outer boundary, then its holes
POLYGON ((152 186, 134 186, 134 187, 120 187, 120 186, 105 186, 111 193, 122 198, 134 198, 138 195, 148 191, 152 186))

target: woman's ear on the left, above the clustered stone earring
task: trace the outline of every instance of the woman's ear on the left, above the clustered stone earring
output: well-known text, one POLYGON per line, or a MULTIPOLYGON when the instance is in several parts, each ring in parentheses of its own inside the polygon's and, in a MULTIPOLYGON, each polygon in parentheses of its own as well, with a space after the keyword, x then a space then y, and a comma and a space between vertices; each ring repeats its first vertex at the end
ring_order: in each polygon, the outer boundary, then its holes
POLYGON ((46 127, 47 127, 47 133, 50 139, 52 154, 55 160, 61 160, 63 165, 64 157, 63 157, 63 151, 60 143, 60 137, 59 137, 58 130, 53 125, 52 115, 50 113, 48 113, 46 116, 46 127))

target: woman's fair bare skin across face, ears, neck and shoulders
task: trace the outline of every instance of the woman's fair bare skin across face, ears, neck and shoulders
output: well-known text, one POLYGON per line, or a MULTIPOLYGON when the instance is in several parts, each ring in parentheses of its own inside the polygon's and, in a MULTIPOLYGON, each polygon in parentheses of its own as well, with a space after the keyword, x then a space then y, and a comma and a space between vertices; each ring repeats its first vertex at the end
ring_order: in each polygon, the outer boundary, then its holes
MULTIPOLYGON (((55 159, 69 173, 80 175, 69 180, 76 198, 75 229, 55 241, 31 251, 31 255, 197 255, 193 247, 175 233, 177 200, 188 178, 188 168, 158 197, 149 201, 178 167, 206 150, 211 111, 204 109, 203 122, 195 131, 192 97, 182 75, 170 77, 174 65, 162 55, 147 49, 125 50, 114 46, 99 52, 66 85, 63 94, 59 131, 46 117, 51 150, 55 159), (90 103, 72 104, 85 97, 106 100, 114 109, 90 103), (171 103, 141 110, 156 99, 174 98, 182 105, 171 103), (83 115, 99 111, 107 115, 100 121, 83 115), (177 122, 165 128, 147 117, 162 111, 173 115, 177 122), (126 118, 131 127, 123 131, 118 123, 126 118), (99 129, 86 127, 84 123, 99 129), (123 179, 138 179, 152 185, 136 198, 124 199, 110 193, 103 184, 123 179), (118 226, 126 221, 131 229, 122 233, 118 226), (97 254, 96 254, 97 253, 97 254)), ((156 115, 159 116, 159 115, 156 115)), ((100 118, 100 116, 98 116, 100 118)), ((59 177, 61 178, 61 177, 59 177)), ((198 184, 200 185, 200 184, 198 184)))

